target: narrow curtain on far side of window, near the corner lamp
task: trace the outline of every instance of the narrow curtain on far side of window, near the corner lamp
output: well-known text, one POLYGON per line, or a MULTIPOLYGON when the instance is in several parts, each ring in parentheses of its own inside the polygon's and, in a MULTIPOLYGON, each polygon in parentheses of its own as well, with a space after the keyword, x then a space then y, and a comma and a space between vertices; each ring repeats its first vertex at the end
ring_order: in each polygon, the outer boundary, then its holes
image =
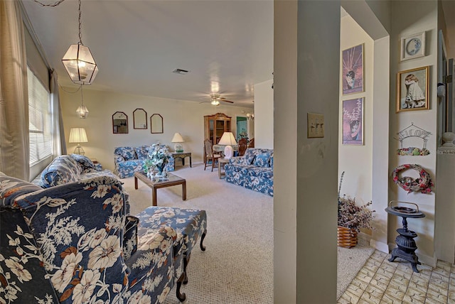
POLYGON ((66 154, 65 129, 63 128, 62 107, 58 95, 58 77, 53 70, 50 74, 50 98, 53 107, 53 143, 54 156, 66 154))

